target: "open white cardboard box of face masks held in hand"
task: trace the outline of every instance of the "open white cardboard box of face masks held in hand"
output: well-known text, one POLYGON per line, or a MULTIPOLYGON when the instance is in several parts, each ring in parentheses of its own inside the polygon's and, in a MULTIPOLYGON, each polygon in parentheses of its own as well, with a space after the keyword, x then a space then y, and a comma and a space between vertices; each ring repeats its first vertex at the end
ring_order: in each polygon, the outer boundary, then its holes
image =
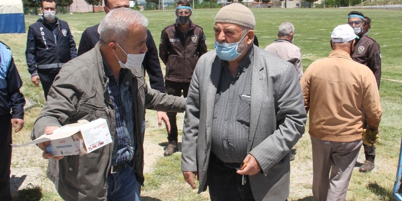
POLYGON ((27 146, 50 141, 47 152, 53 156, 68 156, 87 154, 112 142, 106 119, 96 119, 88 122, 80 120, 78 123, 59 127, 50 135, 42 135, 37 139, 13 147, 27 146))

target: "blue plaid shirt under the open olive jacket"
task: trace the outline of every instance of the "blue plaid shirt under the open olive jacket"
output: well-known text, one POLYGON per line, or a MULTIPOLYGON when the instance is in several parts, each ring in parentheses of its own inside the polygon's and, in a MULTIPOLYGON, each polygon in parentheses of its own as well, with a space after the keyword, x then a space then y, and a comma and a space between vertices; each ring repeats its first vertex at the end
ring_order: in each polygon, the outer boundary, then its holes
POLYGON ((134 156, 134 119, 133 119, 133 97, 131 95, 131 83, 124 82, 128 69, 120 70, 120 78, 109 70, 103 62, 105 74, 109 78, 107 89, 115 106, 115 138, 112 152, 112 166, 128 163, 134 156))

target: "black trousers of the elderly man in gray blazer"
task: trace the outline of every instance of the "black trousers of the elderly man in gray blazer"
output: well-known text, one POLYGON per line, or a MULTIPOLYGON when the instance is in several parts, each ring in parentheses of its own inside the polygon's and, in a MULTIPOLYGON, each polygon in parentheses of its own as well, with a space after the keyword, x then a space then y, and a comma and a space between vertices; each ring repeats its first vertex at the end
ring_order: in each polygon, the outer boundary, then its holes
MULTIPOLYGON (((211 153, 208 167, 208 189, 211 201, 254 201, 250 182, 242 185, 242 175, 235 168, 225 166, 211 153)), ((238 164, 240 167, 240 164, 238 164)))

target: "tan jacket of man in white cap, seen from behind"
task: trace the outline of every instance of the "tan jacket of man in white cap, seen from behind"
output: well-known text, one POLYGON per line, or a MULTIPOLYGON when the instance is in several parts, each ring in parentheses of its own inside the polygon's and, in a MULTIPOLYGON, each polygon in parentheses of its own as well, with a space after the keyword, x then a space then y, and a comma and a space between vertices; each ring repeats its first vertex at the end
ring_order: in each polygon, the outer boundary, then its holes
POLYGON ((347 52, 334 50, 313 62, 300 85, 312 137, 333 142, 361 139, 363 109, 368 126, 379 126, 382 110, 375 77, 347 52))

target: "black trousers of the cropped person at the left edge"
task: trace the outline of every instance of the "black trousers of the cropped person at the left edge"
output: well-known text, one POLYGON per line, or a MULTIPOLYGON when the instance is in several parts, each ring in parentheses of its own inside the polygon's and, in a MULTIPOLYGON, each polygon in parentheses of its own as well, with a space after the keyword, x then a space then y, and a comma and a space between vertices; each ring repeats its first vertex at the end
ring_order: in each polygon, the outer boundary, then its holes
POLYGON ((0 201, 11 200, 11 115, 0 115, 0 201))

